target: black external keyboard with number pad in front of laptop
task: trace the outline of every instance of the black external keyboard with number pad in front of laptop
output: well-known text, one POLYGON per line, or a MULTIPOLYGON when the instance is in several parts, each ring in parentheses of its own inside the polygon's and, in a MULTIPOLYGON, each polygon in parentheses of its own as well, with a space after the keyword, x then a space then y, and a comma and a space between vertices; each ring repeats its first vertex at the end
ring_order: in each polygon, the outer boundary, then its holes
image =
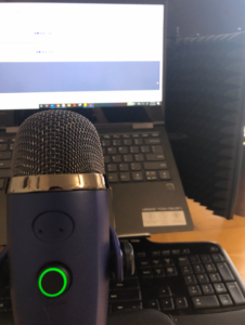
MULTIPOLYGON (((219 245, 156 244, 144 238, 129 242, 137 272, 122 283, 111 276, 108 313, 156 309, 175 316, 245 309, 244 284, 219 245)), ((0 323, 11 317, 7 260, 0 270, 0 323)))

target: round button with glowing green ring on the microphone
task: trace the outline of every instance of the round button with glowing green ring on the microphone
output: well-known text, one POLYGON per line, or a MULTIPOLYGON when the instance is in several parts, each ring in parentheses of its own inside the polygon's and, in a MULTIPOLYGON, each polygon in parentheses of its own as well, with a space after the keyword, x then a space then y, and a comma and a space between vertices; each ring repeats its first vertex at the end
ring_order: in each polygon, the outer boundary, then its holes
POLYGON ((42 295, 54 298, 64 294, 70 284, 68 271, 63 265, 49 265, 38 276, 38 287, 42 295))

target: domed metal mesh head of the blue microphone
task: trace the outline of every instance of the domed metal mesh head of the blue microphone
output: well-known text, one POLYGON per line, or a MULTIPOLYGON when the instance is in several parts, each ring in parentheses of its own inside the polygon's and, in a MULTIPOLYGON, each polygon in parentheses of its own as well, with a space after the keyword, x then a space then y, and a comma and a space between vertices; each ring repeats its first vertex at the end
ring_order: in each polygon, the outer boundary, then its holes
POLYGON ((11 176, 102 173, 104 158, 94 126, 69 110, 27 118, 16 135, 11 176))

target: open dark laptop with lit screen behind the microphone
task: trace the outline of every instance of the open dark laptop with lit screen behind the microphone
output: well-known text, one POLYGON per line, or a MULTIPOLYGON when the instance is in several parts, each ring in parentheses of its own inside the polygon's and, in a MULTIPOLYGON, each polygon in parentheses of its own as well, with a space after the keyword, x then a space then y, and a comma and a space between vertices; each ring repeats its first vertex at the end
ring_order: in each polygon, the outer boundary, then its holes
POLYGON ((70 109, 96 127, 119 237, 193 230, 165 129, 166 1, 0 2, 0 244, 18 126, 70 109))

